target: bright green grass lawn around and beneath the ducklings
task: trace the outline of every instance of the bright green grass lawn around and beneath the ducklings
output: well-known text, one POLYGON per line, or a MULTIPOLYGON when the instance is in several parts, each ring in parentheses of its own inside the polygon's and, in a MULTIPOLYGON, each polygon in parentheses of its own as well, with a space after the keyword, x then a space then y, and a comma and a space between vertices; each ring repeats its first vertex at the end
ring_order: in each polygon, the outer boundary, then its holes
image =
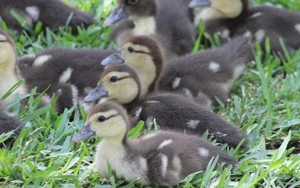
MULTIPOLYGON (((74 6, 92 11, 98 21, 79 34, 61 28, 53 33, 32 28, 31 34, 8 30, 16 42, 19 55, 38 52, 49 47, 115 48, 108 42, 111 28, 102 28, 103 18, 112 1, 65 0, 74 6)), ((257 0, 280 3, 299 10, 298 0, 257 0)), ((115 2, 114 2, 115 3, 115 2)), ((0 22, 5 30, 5 24, 0 22)), ((201 27, 200 27, 201 29, 201 27)), ((217 41, 214 36, 211 41, 217 41)), ((199 39, 201 41, 201 38, 199 39)), ((218 45, 218 42, 215 42, 218 45)), ((269 47, 266 44, 267 48, 269 47)), ((195 44, 194 50, 205 45, 195 44)), ((93 156, 99 138, 71 143, 70 139, 84 123, 86 113, 75 106, 57 115, 53 105, 38 108, 39 97, 32 97, 25 109, 18 110, 19 99, 9 104, 24 123, 11 147, 0 149, 0 187, 143 187, 136 180, 125 182, 115 178, 101 178, 93 170, 93 156), (69 120, 74 114, 73 120, 69 120)), ((231 89, 228 105, 218 113, 239 126, 247 135, 250 147, 224 149, 239 159, 238 166, 217 166, 214 160, 204 172, 190 174, 177 187, 298 187, 300 185, 300 49, 279 57, 269 50, 261 55, 257 46, 255 61, 250 63, 231 89), (283 58, 284 57, 284 58, 283 58), (285 60, 281 60, 285 59, 285 60), (215 170, 214 166, 217 166, 215 170)), ((52 103, 55 102, 53 98, 52 103)), ((136 137, 142 122, 130 131, 136 137)), ((151 124, 159 128, 156 123, 151 124)), ((148 127, 147 131, 153 129, 148 127)), ((0 142, 11 132, 0 135, 0 142)), ((205 134, 203 137, 207 137, 205 134)), ((214 141, 212 141, 214 143, 214 141)), ((215 144, 215 143, 214 143, 215 144)))

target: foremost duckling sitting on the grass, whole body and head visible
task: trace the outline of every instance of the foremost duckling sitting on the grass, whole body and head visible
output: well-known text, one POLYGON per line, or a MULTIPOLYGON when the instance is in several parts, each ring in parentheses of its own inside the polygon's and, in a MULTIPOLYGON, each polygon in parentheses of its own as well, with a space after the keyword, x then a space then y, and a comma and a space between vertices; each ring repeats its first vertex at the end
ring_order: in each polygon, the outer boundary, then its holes
POLYGON ((118 178, 130 182, 139 177, 138 181, 145 185, 175 185, 190 173, 204 171, 217 155, 218 163, 236 164, 236 159, 220 147, 193 135, 157 131, 127 139, 128 125, 121 106, 104 102, 90 111, 84 127, 72 141, 94 135, 103 137, 94 158, 99 174, 108 177, 108 161, 118 178))

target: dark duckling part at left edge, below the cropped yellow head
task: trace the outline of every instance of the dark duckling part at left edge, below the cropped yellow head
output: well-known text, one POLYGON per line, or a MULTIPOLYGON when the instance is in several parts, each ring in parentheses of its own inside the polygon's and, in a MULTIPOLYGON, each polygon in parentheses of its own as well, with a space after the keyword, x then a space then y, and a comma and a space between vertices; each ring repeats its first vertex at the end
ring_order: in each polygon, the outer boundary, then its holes
POLYGON ((10 113, 5 107, 4 102, 0 100, 0 135, 2 133, 14 130, 11 135, 12 138, 16 138, 22 129, 22 123, 16 114, 10 113))

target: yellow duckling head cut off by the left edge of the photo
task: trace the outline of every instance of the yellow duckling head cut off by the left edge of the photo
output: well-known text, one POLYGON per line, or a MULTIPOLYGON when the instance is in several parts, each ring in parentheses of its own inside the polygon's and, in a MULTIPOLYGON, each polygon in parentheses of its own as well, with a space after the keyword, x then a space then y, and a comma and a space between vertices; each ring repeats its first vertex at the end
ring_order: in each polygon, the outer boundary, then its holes
POLYGON ((11 37, 0 29, 0 72, 1 74, 14 73, 15 50, 11 37))

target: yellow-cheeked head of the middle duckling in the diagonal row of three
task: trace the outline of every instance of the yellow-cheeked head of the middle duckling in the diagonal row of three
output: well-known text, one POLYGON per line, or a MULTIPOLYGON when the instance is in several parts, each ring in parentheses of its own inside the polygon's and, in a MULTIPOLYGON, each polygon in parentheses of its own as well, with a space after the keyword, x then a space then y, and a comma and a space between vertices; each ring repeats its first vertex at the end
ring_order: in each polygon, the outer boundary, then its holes
POLYGON ((139 98, 140 83, 133 69, 125 64, 107 67, 97 86, 83 99, 92 101, 105 97, 119 104, 127 104, 139 98))

